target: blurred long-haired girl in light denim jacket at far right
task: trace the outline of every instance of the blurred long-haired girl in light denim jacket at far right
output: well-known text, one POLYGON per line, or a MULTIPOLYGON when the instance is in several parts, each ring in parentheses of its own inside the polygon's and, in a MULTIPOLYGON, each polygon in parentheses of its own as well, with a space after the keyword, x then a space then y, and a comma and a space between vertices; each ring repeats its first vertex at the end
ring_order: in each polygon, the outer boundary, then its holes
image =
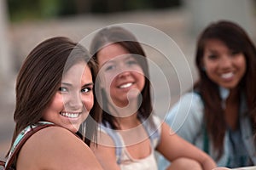
MULTIPOLYGON (((202 31, 195 62, 199 80, 166 118, 183 139, 220 167, 256 165, 256 48, 236 23, 222 20, 202 31)), ((160 167, 167 161, 160 160, 160 167)))

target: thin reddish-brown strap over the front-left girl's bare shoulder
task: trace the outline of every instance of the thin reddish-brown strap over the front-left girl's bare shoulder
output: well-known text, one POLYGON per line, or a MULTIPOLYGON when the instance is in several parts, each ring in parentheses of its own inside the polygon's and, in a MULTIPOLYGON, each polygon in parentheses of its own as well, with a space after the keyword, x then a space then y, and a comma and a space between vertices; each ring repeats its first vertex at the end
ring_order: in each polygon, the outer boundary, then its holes
MULTIPOLYGON (((19 144, 16 145, 16 148, 14 150, 14 152, 9 156, 9 161, 8 164, 6 165, 5 169, 9 169, 9 167, 11 167, 11 165, 13 164, 13 162, 15 161, 15 157, 17 156, 17 154, 19 153, 21 147, 23 146, 23 144, 25 144, 26 140, 29 139, 33 133, 38 132, 39 130, 45 128, 45 127, 51 127, 51 126, 55 126, 55 124, 43 124, 43 125, 39 125, 38 127, 33 127, 31 131, 29 131, 28 133, 25 134, 25 136, 20 140, 19 144)), ((2 162, 1 164, 2 165, 2 162)))

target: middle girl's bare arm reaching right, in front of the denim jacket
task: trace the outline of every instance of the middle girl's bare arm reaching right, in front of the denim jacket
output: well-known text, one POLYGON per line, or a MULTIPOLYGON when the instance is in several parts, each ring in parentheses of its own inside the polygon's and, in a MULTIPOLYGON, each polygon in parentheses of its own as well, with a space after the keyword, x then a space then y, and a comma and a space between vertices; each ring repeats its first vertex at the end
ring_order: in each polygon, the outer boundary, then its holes
POLYGON ((178 158, 186 157, 201 164, 203 169, 212 169, 216 167, 215 162, 206 153, 196 148, 193 144, 177 136, 176 133, 164 122, 161 126, 160 144, 157 150, 169 161, 175 161, 178 158))

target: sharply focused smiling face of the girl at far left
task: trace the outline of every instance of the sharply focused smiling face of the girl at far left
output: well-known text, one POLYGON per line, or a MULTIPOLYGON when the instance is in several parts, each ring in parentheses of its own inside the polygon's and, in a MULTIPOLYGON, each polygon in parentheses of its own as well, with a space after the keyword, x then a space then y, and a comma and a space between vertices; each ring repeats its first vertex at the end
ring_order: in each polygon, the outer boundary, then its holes
POLYGON ((84 62, 73 65, 62 77, 43 119, 76 133, 93 106, 92 89, 90 68, 84 62))

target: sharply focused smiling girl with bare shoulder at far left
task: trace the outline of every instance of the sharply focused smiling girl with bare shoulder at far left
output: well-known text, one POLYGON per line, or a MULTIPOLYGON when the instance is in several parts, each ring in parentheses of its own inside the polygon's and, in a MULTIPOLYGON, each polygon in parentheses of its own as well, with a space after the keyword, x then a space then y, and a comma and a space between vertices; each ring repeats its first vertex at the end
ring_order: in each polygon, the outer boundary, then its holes
POLYGON ((87 50, 67 37, 49 38, 28 54, 17 77, 16 124, 9 154, 20 136, 33 127, 54 126, 26 140, 13 168, 102 169, 89 148, 100 117, 94 99, 95 78, 96 64, 87 50))

